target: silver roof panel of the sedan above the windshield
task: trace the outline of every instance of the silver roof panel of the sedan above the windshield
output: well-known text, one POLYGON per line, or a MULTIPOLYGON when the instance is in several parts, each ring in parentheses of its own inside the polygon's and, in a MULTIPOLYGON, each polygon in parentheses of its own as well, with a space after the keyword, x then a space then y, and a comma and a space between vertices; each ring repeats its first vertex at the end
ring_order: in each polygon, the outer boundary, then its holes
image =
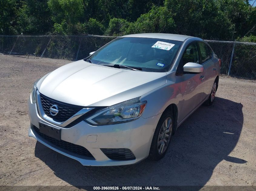
POLYGON ((177 40, 181 42, 184 42, 187 38, 191 38, 191 36, 180 35, 180 34, 166 34, 166 33, 129 34, 122 37, 160 38, 160 39, 168 39, 168 40, 177 40))

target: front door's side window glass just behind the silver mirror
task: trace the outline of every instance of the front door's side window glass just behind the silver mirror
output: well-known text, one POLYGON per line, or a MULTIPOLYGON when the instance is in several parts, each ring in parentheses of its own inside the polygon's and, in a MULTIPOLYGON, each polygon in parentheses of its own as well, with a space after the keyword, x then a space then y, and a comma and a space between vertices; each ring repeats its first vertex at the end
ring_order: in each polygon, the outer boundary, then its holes
POLYGON ((183 73, 183 66, 188 62, 200 63, 199 61, 199 50, 196 42, 190 43, 185 49, 179 66, 177 68, 176 75, 181 75, 183 73))

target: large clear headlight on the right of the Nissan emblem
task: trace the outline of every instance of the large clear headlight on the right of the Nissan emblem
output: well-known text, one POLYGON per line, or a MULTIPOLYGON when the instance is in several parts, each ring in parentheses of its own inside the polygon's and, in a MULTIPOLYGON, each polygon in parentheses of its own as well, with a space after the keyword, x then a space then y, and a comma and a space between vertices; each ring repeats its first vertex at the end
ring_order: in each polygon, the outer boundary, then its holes
POLYGON ((108 125, 132 121, 141 116, 146 104, 147 101, 140 102, 140 98, 137 97, 100 110, 85 120, 92 125, 108 125))

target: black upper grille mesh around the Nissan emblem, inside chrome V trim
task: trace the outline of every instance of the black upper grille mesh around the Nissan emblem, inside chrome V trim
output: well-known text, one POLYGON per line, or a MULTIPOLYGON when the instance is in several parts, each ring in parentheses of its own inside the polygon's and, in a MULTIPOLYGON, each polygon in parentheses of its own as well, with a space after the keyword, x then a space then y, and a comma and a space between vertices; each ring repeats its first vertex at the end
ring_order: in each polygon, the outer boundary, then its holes
POLYGON ((45 114, 57 122, 63 122, 68 120, 71 116, 73 116, 75 113, 77 113, 78 111, 84 108, 83 106, 76 106, 68 103, 63 103, 57 100, 53 100, 42 94, 40 94, 40 96, 41 96, 42 107, 44 109, 45 114), (59 111, 56 116, 52 116, 50 114, 50 107, 52 107, 52 105, 58 106, 59 111))

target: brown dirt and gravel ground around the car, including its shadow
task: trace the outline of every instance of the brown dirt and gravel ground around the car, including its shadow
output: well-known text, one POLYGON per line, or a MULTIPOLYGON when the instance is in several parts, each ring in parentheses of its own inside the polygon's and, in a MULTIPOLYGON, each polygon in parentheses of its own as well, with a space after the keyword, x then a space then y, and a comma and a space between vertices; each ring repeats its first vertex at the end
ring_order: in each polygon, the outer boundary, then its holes
POLYGON ((177 130, 166 156, 87 167, 28 137, 33 82, 68 60, 0 55, 0 185, 243 185, 256 189, 256 81, 221 76, 216 100, 177 130))

